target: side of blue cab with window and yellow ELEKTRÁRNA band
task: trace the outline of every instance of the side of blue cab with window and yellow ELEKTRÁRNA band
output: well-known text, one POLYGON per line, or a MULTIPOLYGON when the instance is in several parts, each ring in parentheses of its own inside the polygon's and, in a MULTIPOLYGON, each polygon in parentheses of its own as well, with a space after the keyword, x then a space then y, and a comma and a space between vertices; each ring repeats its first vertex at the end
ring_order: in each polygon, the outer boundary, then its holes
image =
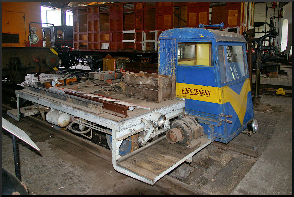
POLYGON ((176 97, 186 100, 186 114, 198 117, 208 138, 215 137, 215 133, 222 136, 219 131, 222 109, 215 43, 206 39, 198 39, 197 42, 181 40, 176 50, 176 97))

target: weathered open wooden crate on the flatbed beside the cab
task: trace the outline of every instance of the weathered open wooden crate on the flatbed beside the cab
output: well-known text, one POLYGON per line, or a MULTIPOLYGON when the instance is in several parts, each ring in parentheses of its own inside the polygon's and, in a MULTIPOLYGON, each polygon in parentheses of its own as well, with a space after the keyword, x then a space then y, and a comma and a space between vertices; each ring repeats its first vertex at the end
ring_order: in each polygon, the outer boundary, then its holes
POLYGON ((169 75, 138 72, 125 75, 125 86, 127 96, 162 102, 175 98, 176 78, 169 75))

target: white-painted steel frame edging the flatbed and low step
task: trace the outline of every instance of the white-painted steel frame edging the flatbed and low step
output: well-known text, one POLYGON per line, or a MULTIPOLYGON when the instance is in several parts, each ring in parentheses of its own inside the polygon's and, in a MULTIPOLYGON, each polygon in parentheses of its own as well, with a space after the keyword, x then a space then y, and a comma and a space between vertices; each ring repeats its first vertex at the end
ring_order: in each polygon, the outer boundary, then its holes
POLYGON ((141 119, 144 118, 145 120, 149 120, 150 115, 152 112, 157 111, 163 115, 166 116, 166 120, 170 120, 171 118, 177 117, 179 115, 182 115, 185 112, 185 100, 182 100, 181 102, 173 103, 169 106, 164 106, 161 108, 157 108, 155 110, 150 110, 147 113, 140 114, 136 117, 127 117, 120 121, 110 120, 107 118, 104 118, 103 115, 97 114, 94 112, 94 110, 91 111, 91 109, 79 108, 72 106, 71 103, 66 101, 56 101, 53 100, 54 98, 48 97, 48 96, 39 96, 35 95, 35 92, 26 91, 26 90, 17 90, 16 91, 16 97, 17 97, 17 106, 18 106, 18 113, 17 114, 9 114, 11 117, 13 117, 15 120, 19 121, 21 117, 24 117, 22 113, 20 112, 20 106, 19 101, 20 98, 24 100, 29 100, 31 102, 37 103, 39 105, 43 105, 46 107, 50 107, 55 110, 59 110, 61 112, 65 112, 70 115, 74 115, 76 117, 82 118, 84 120, 87 120, 89 122, 93 122, 98 125, 102 125, 106 128, 109 128, 112 130, 112 164, 113 168, 123 173, 127 176, 136 178, 140 181, 143 181, 145 183, 153 185, 156 181, 158 181, 160 178, 165 176, 168 172, 176 168, 178 165, 183 163, 185 160, 191 160, 192 156, 196 154, 198 151, 200 151, 202 148, 207 146, 212 142, 212 140, 208 140, 207 142, 204 142, 203 145, 201 145, 199 148, 191 152, 186 157, 182 158, 179 162, 171 166, 171 168, 168 168, 166 171, 158 175, 154 180, 149 180, 144 177, 141 177, 135 173, 133 173, 130 170, 126 170, 125 168, 122 168, 120 165, 116 163, 117 159, 121 158, 121 156, 118 154, 119 147, 124 139, 128 138, 131 135, 134 135, 135 133, 139 133, 140 131, 146 130, 146 125, 141 122, 141 119))

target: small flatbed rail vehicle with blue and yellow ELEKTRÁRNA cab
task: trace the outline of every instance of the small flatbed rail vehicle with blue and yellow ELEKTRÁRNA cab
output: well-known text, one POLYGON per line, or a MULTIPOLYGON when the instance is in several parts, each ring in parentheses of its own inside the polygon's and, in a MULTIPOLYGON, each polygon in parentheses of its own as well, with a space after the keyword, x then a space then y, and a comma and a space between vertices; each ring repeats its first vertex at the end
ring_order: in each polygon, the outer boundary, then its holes
POLYGON ((97 93, 103 89, 99 80, 25 84, 16 91, 18 108, 8 114, 20 121, 37 112, 45 120, 47 113, 54 128, 86 138, 104 133, 113 168, 153 185, 213 141, 256 132, 245 44, 233 32, 168 29, 158 39, 158 74, 108 72, 122 76, 123 92, 111 97, 97 93), (37 110, 21 107, 27 100, 37 110))

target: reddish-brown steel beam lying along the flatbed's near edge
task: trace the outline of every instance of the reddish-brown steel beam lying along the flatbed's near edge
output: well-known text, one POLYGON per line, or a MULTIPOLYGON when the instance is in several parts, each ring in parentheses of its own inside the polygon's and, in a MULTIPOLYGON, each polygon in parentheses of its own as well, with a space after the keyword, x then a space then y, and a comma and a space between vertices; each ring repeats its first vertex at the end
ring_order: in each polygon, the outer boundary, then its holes
POLYGON ((102 99, 95 98, 95 97, 91 97, 88 95, 83 95, 83 94, 80 94, 80 93, 74 92, 74 91, 64 90, 64 93, 66 93, 68 95, 73 95, 73 96, 77 96, 77 97, 81 97, 81 98, 85 98, 85 99, 89 99, 89 100, 103 103, 103 106, 102 106, 103 112, 106 112, 106 113, 109 113, 112 115, 116 115, 116 116, 122 117, 122 118, 128 117, 128 115, 127 115, 128 108, 129 108, 128 106, 121 105, 118 103, 109 102, 109 101, 102 100, 102 99))

